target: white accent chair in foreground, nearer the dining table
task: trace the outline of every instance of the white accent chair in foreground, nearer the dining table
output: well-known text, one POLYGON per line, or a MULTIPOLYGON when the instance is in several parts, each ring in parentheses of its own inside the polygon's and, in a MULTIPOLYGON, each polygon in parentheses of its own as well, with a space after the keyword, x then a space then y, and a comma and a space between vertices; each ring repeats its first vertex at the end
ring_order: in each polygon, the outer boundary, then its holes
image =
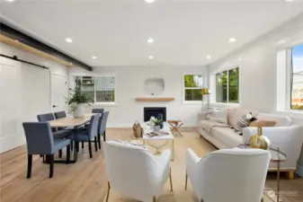
POLYGON ((114 189, 128 198, 155 202, 168 177, 173 191, 169 150, 157 157, 138 145, 107 141, 104 153, 109 176, 106 201, 114 189))

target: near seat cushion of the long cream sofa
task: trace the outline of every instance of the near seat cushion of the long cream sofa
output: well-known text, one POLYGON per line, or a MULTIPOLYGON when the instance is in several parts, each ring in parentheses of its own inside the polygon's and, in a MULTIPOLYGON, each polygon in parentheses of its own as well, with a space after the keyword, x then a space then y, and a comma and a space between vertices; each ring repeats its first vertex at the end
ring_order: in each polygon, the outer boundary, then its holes
POLYGON ((228 148, 234 148, 243 144, 243 137, 239 136, 233 129, 228 127, 214 127, 211 134, 223 145, 227 145, 228 148))

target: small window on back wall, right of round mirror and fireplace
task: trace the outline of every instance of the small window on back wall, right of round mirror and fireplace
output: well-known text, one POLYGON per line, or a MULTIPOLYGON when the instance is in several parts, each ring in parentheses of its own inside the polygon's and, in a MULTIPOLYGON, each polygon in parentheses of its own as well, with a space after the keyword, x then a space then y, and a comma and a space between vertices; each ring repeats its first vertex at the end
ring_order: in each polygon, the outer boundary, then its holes
POLYGON ((202 101, 202 75, 184 75, 185 101, 202 101))

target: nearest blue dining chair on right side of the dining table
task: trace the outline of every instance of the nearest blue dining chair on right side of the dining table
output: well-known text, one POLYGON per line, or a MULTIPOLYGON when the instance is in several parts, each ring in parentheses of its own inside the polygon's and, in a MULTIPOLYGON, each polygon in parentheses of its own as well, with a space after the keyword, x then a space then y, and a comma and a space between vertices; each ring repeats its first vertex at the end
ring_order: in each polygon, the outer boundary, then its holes
POLYGON ((87 142, 90 158, 93 158, 92 141, 94 141, 94 148, 95 151, 97 151, 97 135, 98 135, 99 118, 100 118, 100 114, 95 114, 90 119, 89 126, 87 129, 79 130, 76 136, 67 137, 67 138, 71 138, 73 141, 76 141, 75 144, 77 144, 77 142, 80 141, 87 142))

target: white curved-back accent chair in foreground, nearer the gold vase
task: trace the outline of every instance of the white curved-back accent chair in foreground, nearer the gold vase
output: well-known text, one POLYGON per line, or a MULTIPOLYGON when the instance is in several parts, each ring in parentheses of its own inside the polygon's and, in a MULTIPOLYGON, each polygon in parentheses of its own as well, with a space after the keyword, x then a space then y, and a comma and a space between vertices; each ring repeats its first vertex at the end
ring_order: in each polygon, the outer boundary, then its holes
POLYGON ((186 180, 199 201, 260 202, 271 154, 261 149, 222 149, 199 158, 186 154, 186 180))

